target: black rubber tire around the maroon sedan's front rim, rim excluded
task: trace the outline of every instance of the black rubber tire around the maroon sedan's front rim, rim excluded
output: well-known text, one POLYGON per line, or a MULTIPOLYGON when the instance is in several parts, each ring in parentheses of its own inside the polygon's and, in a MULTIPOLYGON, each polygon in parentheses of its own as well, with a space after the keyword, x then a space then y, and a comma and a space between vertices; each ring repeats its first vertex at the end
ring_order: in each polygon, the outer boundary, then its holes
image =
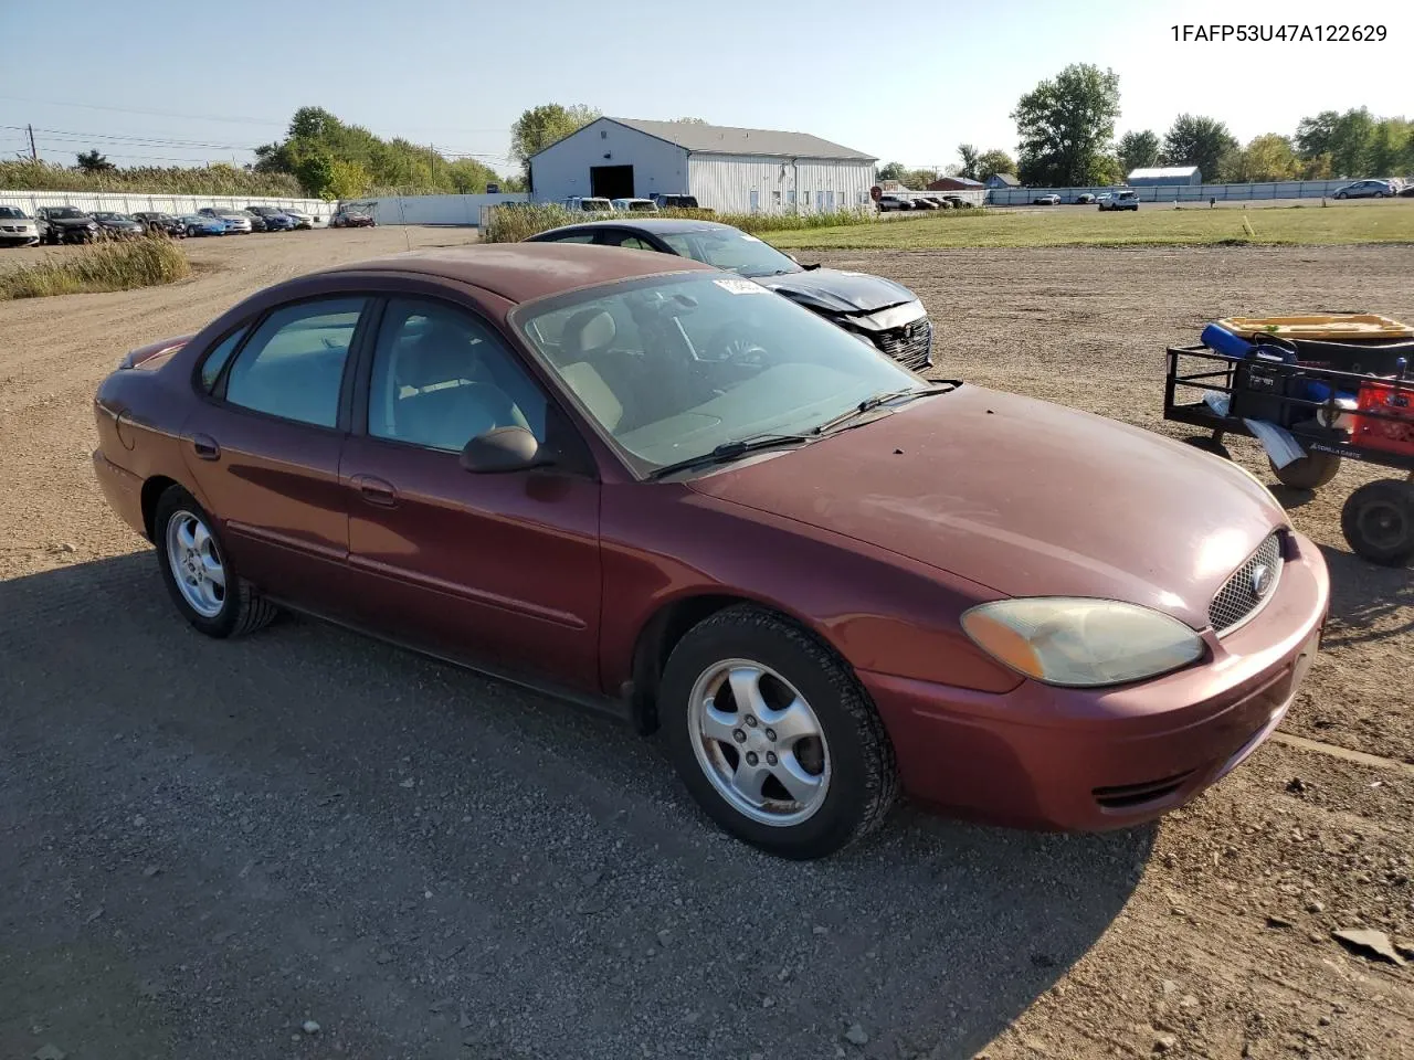
MULTIPOLYGON (((894 745, 850 667, 792 622, 751 605, 717 612, 673 649, 658 697, 673 765, 699 806, 725 831, 769 854, 823 858, 874 831, 898 793, 894 745), (693 687, 727 660, 769 667, 810 705, 829 746, 829 787, 797 824, 752 820, 720 794, 697 758, 693 687)), ((734 749, 732 749, 734 750, 734 749)))

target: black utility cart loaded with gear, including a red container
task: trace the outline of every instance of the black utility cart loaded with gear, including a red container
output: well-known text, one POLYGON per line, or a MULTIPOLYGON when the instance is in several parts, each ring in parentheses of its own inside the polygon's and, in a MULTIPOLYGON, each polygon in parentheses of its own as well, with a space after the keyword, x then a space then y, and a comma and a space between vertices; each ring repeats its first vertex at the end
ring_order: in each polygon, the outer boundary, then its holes
POLYGON ((1372 563, 1403 567, 1414 560, 1414 375, 1407 359, 1349 372, 1281 360, 1295 355, 1290 342, 1268 348, 1273 356, 1244 359, 1203 345, 1169 346, 1164 418, 1203 428, 1209 434, 1185 441, 1225 458, 1226 435, 1254 437, 1247 420, 1285 428, 1305 455, 1271 469, 1294 489, 1326 485, 1343 459, 1401 472, 1350 493, 1340 529, 1372 563))

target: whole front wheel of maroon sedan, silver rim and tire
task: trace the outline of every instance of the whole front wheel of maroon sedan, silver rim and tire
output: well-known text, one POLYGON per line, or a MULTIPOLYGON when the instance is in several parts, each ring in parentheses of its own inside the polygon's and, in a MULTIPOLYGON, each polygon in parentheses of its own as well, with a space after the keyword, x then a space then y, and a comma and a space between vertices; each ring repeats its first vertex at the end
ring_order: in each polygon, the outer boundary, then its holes
POLYGON ((822 858, 877 828, 894 803, 894 746, 864 688, 768 611, 727 608, 689 630, 658 702, 693 799, 764 851, 822 858))

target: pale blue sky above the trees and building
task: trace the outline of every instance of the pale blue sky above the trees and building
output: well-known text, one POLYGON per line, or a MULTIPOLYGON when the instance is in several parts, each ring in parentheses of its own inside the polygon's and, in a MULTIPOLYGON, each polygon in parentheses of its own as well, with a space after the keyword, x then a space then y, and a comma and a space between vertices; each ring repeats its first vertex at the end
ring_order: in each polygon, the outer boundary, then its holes
POLYGON ((560 102, 807 131, 946 165, 964 141, 1014 153, 1018 96, 1070 62, 1120 75, 1117 133, 1162 134, 1184 110, 1241 140, 1291 133, 1322 109, 1414 117, 1397 58, 1414 44, 1404 3, 0 0, 0 126, 11 126, 0 154, 25 148, 13 126, 33 123, 41 154, 65 163, 89 147, 134 165, 247 161, 296 107, 317 105, 508 171, 516 116, 560 102), (1346 8, 1387 40, 1175 42, 1171 28, 1329 24, 1346 8), (57 38, 59 61, 42 49, 57 38))

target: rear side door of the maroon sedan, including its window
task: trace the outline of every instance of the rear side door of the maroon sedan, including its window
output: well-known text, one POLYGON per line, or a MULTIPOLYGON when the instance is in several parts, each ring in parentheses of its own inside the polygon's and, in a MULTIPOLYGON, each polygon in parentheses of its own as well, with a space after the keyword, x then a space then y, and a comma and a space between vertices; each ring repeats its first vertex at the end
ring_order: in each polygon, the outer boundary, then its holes
POLYGON ((338 609, 348 513, 339 452, 351 351, 370 300, 332 294, 277 305, 215 343, 205 401, 181 441, 201 500, 242 574, 271 596, 338 609))

